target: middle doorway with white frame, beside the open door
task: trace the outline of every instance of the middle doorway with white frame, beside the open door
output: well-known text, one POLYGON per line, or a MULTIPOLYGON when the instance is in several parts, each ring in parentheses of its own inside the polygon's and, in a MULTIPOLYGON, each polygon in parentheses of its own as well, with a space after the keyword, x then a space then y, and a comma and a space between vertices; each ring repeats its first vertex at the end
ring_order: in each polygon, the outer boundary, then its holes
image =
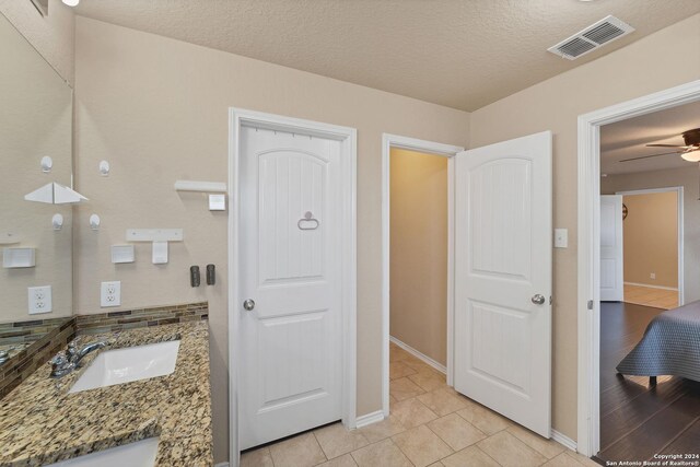
POLYGON ((383 143, 383 407, 377 416, 385 418, 392 401, 452 385, 452 156, 464 148, 394 135, 384 135, 383 143))

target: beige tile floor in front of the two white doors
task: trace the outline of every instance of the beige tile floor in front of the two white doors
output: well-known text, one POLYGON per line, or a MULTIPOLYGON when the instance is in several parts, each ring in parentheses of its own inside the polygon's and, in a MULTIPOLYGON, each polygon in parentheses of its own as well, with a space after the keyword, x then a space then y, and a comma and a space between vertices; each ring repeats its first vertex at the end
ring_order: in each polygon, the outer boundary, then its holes
POLYGON ((390 415, 359 430, 323 427, 244 453, 242 467, 582 467, 593 460, 457 394, 392 343, 390 415))

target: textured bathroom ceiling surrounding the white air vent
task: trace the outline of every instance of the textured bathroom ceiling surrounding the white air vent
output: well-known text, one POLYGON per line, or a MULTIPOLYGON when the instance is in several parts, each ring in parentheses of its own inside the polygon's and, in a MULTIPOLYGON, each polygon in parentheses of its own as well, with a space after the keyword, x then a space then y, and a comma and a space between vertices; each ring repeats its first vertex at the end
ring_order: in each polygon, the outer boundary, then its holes
POLYGON ((78 14, 475 110, 700 12, 698 0, 83 0, 78 14), (614 14, 637 31, 547 48, 614 14))

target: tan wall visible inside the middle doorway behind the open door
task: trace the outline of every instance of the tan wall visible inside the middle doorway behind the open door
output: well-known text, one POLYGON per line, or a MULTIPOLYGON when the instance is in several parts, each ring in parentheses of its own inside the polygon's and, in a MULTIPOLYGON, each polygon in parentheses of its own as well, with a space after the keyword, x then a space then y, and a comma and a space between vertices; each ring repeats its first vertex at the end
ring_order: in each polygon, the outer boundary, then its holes
POLYGON ((447 157, 392 148, 389 332, 447 357, 447 157))

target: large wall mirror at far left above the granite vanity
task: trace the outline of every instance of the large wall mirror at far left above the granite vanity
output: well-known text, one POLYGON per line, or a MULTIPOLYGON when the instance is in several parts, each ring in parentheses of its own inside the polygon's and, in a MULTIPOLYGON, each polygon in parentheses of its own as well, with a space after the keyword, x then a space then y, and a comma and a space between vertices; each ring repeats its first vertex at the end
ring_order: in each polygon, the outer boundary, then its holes
POLYGON ((0 14, 0 351, 72 314, 72 208, 25 195, 72 182, 72 90, 0 14), (30 314, 32 292, 34 310, 30 314))

